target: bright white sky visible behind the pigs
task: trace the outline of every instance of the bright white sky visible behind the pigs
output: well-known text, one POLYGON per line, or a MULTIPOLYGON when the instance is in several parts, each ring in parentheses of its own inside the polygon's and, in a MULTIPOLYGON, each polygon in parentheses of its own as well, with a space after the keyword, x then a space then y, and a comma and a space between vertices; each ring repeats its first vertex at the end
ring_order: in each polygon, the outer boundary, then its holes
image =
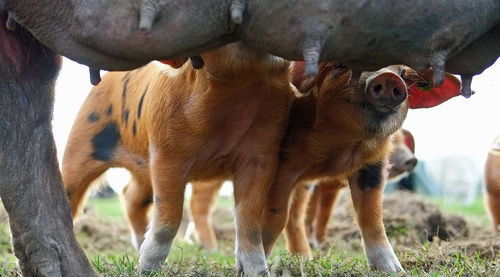
MULTIPOLYGON (((56 83, 52 122, 59 161, 73 121, 91 87, 88 68, 64 58, 56 83)), ((445 175, 455 174, 458 179, 482 178, 489 146, 500 134, 499 60, 474 77, 472 89, 476 94, 469 99, 458 96, 437 107, 410 110, 403 124, 414 135, 417 158, 428 164, 426 168, 438 179, 445 178, 441 176, 446 171, 443 168, 450 164, 453 164, 451 173, 448 168, 445 175)), ((116 186, 125 184, 129 178, 122 171, 110 175, 116 186)), ((450 182, 453 187, 459 181, 450 182)))

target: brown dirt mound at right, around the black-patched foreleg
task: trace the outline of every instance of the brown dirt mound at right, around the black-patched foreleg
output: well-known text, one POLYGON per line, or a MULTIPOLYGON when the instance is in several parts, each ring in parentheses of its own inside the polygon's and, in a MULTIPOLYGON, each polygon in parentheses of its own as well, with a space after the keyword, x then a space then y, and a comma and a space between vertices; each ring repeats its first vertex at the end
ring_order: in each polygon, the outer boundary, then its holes
MULTIPOLYGON (((344 193, 335 207, 328 225, 326 240, 321 250, 330 247, 362 251, 361 236, 354 218, 348 193, 344 193)), ((384 195, 384 226, 396 252, 419 249, 433 243, 444 255, 461 251, 470 257, 495 258, 500 251, 500 235, 489 226, 481 226, 468 218, 443 212, 422 196, 396 191, 384 195)))

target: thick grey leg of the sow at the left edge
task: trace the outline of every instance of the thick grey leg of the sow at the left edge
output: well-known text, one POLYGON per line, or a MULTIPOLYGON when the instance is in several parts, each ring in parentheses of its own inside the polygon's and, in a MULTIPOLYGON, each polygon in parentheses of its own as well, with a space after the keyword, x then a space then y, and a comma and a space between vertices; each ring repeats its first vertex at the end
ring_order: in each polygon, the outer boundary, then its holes
POLYGON ((24 276, 95 276, 73 234, 51 132, 60 58, 6 21, 0 10, 0 196, 15 255, 24 276))

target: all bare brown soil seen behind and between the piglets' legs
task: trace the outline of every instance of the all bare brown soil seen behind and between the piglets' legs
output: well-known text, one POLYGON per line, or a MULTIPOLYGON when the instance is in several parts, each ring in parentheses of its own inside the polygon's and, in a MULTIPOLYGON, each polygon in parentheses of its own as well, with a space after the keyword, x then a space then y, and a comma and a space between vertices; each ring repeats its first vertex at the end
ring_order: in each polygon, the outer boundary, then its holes
MULTIPOLYGON (((426 254, 425 259, 432 260, 425 261, 423 267, 435 266, 440 260, 455 256, 457 252, 467 257, 486 259, 494 259, 500 253, 500 235, 495 234, 491 226, 483 226, 473 218, 444 213, 420 195, 404 191, 387 194, 383 207, 386 232, 396 253, 416 253, 415 258, 401 259, 403 266, 421 264, 422 259, 418 257, 421 257, 419 253, 424 252, 425 247, 432 248, 433 252, 432 255, 426 254)), ((5 218, 5 213, 0 213, 0 221, 5 221, 5 218)), ((216 208, 213 222, 219 240, 234 241, 232 208, 216 208)), ((178 238, 184 237, 187 224, 188 219, 185 217, 178 238)), ((122 219, 104 218, 90 209, 75 221, 75 231, 87 253, 136 255, 130 243, 127 223, 122 219)), ((315 252, 315 255, 322 255, 331 247, 363 251, 348 193, 340 197, 329 222, 327 238, 319 246, 321 251, 315 252)))

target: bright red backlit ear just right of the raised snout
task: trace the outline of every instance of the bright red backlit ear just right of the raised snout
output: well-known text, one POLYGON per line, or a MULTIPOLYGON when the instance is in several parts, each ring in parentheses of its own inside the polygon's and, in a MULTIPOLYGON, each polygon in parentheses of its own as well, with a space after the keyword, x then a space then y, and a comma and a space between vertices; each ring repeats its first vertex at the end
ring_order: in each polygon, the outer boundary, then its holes
POLYGON ((439 87, 431 83, 427 87, 419 87, 418 83, 408 88, 410 108, 431 108, 455 96, 460 95, 460 80, 452 74, 446 73, 444 82, 439 87))

